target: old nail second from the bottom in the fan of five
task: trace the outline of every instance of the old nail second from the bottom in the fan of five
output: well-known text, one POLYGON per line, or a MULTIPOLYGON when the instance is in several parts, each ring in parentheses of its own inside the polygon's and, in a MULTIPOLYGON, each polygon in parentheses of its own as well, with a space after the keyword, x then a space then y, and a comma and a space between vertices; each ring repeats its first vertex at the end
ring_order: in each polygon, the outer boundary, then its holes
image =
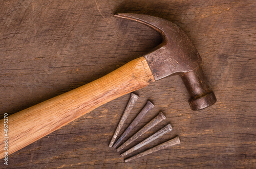
POLYGON ((156 140, 157 138, 161 137, 162 135, 164 135, 165 133, 172 131, 173 128, 172 126, 170 126, 170 124, 168 124, 167 126, 165 126, 164 128, 162 128, 161 130, 159 130, 158 132, 156 132, 155 134, 153 134, 152 136, 146 138, 145 140, 141 141, 140 143, 138 143, 136 146, 134 146, 133 148, 127 150, 126 152, 122 153, 120 156, 126 156, 132 152, 134 152, 135 150, 138 150, 139 148, 145 146, 146 144, 156 140))

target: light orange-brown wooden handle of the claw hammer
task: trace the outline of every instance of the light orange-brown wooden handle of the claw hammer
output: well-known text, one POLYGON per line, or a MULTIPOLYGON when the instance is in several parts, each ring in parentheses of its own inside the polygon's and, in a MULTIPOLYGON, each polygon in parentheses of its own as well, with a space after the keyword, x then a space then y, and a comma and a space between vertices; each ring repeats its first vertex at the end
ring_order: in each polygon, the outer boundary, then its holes
MULTIPOLYGON (((91 110, 126 93, 153 82, 154 77, 144 57, 135 59, 112 73, 50 100, 8 116, 8 155, 50 134, 91 110)), ((1 140, 4 119, 0 120, 1 140)), ((5 142, 0 142, 3 158, 5 142)))

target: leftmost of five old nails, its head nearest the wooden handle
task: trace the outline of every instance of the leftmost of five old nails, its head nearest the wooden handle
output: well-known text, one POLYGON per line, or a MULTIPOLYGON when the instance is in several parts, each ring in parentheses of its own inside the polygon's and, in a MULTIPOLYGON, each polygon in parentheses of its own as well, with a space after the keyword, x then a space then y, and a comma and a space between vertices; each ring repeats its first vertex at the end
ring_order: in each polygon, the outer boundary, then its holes
POLYGON ((130 100, 123 112, 123 115, 119 121, 119 124, 116 128, 116 131, 110 141, 110 144, 109 144, 109 147, 112 147, 116 138, 117 138, 117 135, 119 134, 120 130, 122 129, 123 125, 124 125, 124 122, 125 120, 127 119, 128 115, 130 114, 130 112, 132 111, 133 109, 133 106, 135 104, 135 102, 137 102, 137 100, 139 99, 139 96, 137 94, 134 94, 134 93, 131 93, 131 96, 130 96, 130 100))

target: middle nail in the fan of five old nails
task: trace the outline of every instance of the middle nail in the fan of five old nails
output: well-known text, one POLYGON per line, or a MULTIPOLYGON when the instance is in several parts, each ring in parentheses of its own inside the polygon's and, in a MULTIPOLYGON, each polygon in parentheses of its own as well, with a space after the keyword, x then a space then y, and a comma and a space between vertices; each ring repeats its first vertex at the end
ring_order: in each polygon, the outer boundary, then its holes
POLYGON ((160 111, 159 114, 153 118, 149 123, 147 123, 142 129, 140 129, 136 134, 134 134, 129 140, 124 142, 118 149, 116 149, 117 152, 121 151, 123 148, 128 146, 130 143, 132 143, 134 140, 139 138, 142 134, 147 132, 148 130, 152 129, 154 126, 162 122, 166 117, 163 115, 163 113, 160 111))

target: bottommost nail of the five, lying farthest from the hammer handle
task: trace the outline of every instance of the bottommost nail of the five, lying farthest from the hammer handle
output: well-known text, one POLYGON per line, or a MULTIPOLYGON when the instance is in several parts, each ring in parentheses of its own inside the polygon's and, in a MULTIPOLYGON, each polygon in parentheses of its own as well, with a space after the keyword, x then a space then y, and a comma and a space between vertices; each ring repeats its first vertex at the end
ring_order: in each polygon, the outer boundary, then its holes
POLYGON ((162 143, 162 144, 160 144, 160 145, 158 145, 158 146, 156 146, 156 147, 153 147, 152 149, 148 149, 148 150, 146 150, 146 151, 144 151, 144 152, 142 152, 142 153, 139 153, 139 154, 137 154, 137 155, 135 155, 135 156, 132 156, 132 157, 130 157, 130 158, 127 158, 127 159, 124 160, 124 162, 128 162, 128 161, 134 160, 134 159, 136 159, 136 158, 139 158, 139 157, 142 157, 142 156, 145 156, 145 155, 154 153, 154 152, 156 152, 156 151, 166 149, 166 148, 171 147, 171 146, 174 146, 174 145, 176 145, 176 144, 180 144, 180 139, 179 139, 178 136, 175 137, 174 139, 171 139, 171 140, 169 140, 169 141, 166 141, 166 142, 164 142, 164 143, 162 143))

